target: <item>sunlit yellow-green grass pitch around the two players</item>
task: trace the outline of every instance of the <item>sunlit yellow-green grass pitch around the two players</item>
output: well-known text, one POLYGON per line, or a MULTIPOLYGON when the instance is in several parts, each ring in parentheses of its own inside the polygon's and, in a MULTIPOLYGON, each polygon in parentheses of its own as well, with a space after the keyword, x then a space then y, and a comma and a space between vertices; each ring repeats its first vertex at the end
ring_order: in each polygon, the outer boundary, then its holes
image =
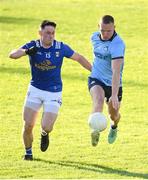
MULTIPOLYGON (((147 0, 0 0, 0 178, 148 179, 147 0), (30 80, 27 57, 10 60, 11 49, 38 37, 43 19, 56 21, 56 39, 92 61, 90 36, 98 19, 112 14, 126 42, 124 96, 118 139, 108 129, 91 147, 87 118, 89 72, 64 60, 63 105, 47 152, 39 150, 40 117, 34 129, 35 161, 24 162, 22 106, 30 80)), ((106 108, 104 109, 106 113, 106 108)))

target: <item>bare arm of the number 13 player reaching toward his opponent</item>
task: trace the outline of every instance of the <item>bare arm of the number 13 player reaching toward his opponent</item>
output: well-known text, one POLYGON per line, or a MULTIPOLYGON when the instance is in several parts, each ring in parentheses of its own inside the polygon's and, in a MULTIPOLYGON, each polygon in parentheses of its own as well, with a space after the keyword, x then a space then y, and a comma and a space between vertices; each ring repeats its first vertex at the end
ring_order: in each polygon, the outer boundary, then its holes
POLYGON ((78 53, 74 53, 70 58, 79 62, 85 69, 91 71, 92 65, 88 62, 88 60, 84 56, 78 53))

